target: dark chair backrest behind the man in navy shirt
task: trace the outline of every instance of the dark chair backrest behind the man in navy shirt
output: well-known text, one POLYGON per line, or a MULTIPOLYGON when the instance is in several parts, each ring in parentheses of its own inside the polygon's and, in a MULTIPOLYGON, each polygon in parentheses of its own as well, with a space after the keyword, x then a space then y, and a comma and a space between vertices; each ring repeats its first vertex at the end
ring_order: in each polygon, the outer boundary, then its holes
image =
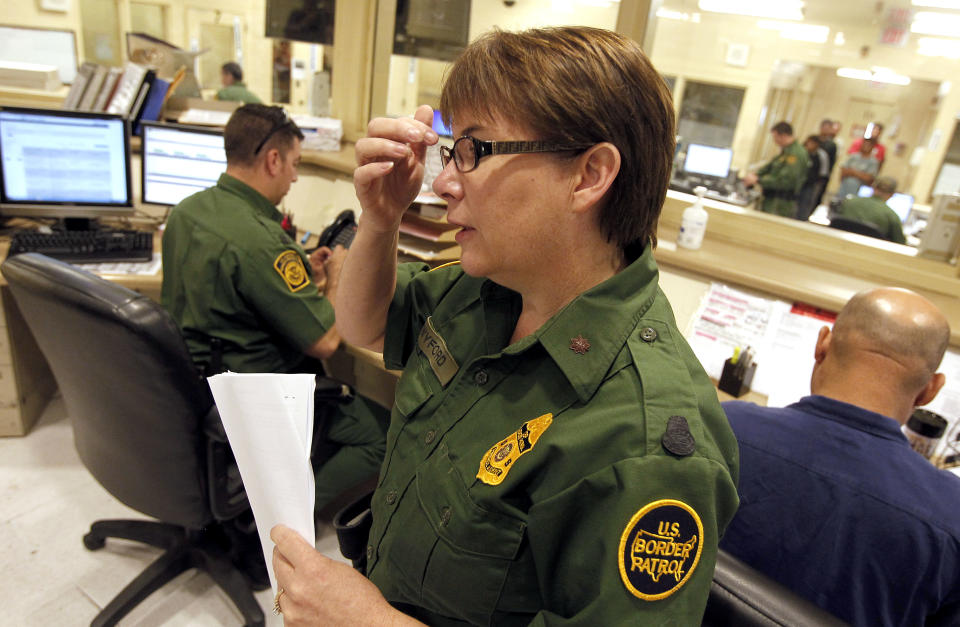
POLYGON ((843 621, 724 550, 717 552, 705 627, 839 627, 843 621))

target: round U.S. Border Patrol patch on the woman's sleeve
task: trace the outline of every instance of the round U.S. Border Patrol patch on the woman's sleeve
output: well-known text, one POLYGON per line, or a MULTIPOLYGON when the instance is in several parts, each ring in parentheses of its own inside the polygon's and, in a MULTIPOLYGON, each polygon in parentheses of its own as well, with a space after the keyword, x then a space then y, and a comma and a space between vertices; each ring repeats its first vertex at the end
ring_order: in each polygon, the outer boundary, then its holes
POLYGON ((703 524, 692 507, 672 499, 654 501, 623 530, 620 578, 636 597, 665 599, 690 580, 702 548, 703 524))

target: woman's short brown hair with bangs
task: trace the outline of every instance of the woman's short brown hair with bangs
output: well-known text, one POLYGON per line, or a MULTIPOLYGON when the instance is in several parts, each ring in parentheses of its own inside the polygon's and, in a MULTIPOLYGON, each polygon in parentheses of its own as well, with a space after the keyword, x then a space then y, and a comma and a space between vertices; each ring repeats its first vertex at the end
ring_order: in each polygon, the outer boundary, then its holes
POLYGON ((440 96, 444 122, 459 112, 526 127, 562 144, 610 142, 620 172, 600 210, 600 230, 628 259, 650 241, 673 161, 673 99, 640 46, 588 27, 494 30, 454 62, 440 96))

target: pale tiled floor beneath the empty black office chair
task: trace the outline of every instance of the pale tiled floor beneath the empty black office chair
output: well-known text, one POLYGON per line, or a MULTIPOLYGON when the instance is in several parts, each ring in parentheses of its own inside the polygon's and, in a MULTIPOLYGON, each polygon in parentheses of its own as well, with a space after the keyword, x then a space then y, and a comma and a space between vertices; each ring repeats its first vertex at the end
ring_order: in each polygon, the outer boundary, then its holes
MULTIPOLYGON (((88 551, 94 520, 146 519, 108 494, 73 447, 63 400, 55 398, 29 435, 0 438, 0 624, 89 625, 104 605, 160 555, 108 540, 88 551)), ((317 548, 343 559, 328 526, 317 548)), ((267 625, 282 625, 273 594, 257 593, 267 625)), ((121 625, 240 625, 240 613, 205 574, 188 571, 155 592, 121 625)))

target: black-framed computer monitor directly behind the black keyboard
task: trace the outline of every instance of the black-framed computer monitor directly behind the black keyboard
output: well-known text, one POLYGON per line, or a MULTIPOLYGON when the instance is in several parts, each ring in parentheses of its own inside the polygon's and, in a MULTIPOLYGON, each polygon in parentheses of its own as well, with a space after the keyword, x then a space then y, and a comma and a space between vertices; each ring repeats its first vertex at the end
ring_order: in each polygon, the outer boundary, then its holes
POLYGON ((0 214, 133 212, 130 129, 122 116, 0 107, 0 214))

